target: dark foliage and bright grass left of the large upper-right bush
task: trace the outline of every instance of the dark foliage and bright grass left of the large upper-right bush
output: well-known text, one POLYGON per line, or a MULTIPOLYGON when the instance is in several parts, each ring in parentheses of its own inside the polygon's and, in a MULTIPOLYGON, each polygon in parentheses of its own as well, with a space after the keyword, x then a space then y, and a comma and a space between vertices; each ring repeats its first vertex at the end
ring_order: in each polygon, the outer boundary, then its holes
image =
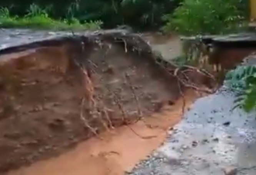
MULTIPOLYGON (((79 26, 79 28, 84 24, 86 24, 86 27, 88 25, 95 26, 94 22, 88 23, 88 21, 101 21, 102 28, 130 25, 137 29, 158 29, 159 26, 163 24, 162 16, 166 13, 171 13, 180 1, 181 0, 26 0, 21 2, 18 0, 2 0, 0 7, 6 8, 3 10, 4 19, 2 18, 1 21, 2 26, 25 26, 29 23, 29 26, 34 27, 38 26, 38 23, 40 23, 40 25, 42 23, 43 26, 50 24, 51 27, 60 26, 60 28, 63 28, 63 26, 65 26, 64 28, 69 28, 70 26, 68 27, 66 25, 67 23, 71 26, 79 26), (6 9, 8 9, 8 13, 6 13, 6 9), (33 12, 33 15, 30 14, 31 12, 33 12), (8 16, 8 18, 6 16, 8 16), (12 18, 10 18, 10 16, 12 18), (62 22, 59 23, 57 21, 62 22), (3 23, 6 25, 3 25, 3 23), (32 25, 32 23, 35 25, 32 25)), ((96 26, 98 26, 98 22, 96 26)))

